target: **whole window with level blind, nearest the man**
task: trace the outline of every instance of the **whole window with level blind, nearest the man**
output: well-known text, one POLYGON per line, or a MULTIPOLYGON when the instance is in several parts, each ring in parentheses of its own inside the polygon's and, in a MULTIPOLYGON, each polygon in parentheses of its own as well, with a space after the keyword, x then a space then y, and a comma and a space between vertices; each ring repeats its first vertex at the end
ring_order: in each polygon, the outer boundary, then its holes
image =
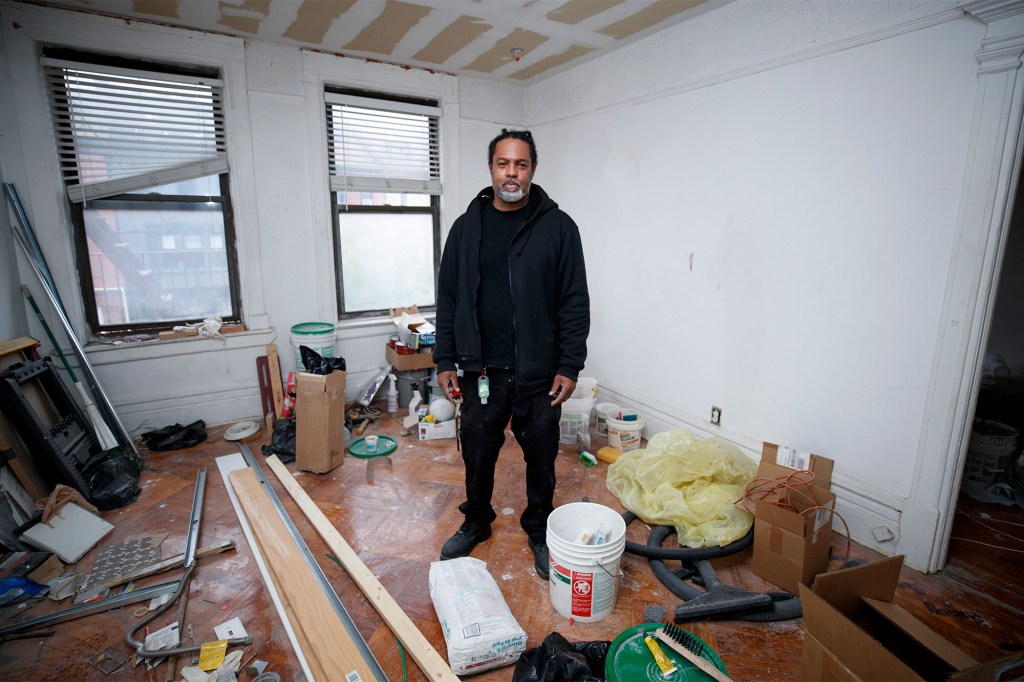
POLYGON ((328 91, 328 159, 342 317, 436 301, 440 109, 328 91))

